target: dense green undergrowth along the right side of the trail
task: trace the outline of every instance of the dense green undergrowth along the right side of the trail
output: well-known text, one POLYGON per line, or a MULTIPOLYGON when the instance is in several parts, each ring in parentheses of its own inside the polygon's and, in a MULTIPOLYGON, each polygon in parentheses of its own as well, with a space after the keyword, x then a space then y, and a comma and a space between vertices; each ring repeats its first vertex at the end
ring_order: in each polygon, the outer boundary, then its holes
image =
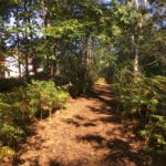
MULTIPOLYGON (((115 84, 123 115, 139 117, 146 147, 154 152, 166 151, 166 77, 145 77, 141 75, 135 81, 123 79, 115 84), (128 82, 127 82, 128 81, 128 82)), ((146 148, 146 149, 147 149, 146 148)))

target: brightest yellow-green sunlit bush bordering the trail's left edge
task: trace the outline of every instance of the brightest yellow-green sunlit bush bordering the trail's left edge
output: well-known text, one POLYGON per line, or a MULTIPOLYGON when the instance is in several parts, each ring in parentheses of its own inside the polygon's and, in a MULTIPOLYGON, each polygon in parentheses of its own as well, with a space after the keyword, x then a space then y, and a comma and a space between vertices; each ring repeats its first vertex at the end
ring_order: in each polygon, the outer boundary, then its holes
POLYGON ((55 87, 52 81, 32 81, 27 89, 27 97, 34 115, 42 115, 54 107, 63 108, 66 104, 68 93, 55 87))

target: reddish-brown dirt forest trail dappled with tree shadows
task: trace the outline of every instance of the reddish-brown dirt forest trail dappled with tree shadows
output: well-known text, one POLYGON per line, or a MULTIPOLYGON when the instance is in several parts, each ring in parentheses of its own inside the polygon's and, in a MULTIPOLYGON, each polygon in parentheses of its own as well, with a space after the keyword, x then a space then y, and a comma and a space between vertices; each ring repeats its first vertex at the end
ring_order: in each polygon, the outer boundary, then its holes
MULTIPOLYGON (((15 166, 137 166, 139 142, 121 123, 108 85, 96 85, 89 97, 71 100, 51 122, 34 126, 15 166)), ((143 162, 143 160, 142 160, 143 162)))

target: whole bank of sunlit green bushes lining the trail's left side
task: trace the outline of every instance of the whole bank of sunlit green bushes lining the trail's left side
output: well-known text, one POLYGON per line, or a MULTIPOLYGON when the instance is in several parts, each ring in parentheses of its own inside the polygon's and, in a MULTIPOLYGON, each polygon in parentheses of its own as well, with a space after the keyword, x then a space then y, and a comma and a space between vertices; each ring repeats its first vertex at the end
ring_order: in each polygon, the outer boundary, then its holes
POLYGON ((53 82, 32 81, 25 87, 0 94, 0 159, 14 153, 33 120, 66 105, 68 93, 53 82))

